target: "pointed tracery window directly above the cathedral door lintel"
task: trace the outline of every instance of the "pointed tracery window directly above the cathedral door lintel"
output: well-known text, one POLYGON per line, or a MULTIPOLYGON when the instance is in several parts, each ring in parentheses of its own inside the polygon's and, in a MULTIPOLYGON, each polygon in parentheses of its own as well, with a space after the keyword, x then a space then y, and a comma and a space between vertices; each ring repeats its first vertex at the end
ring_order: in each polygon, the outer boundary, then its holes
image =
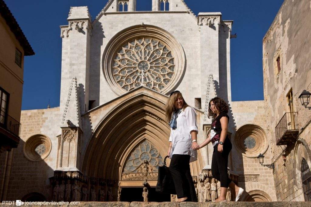
POLYGON ((143 141, 137 146, 130 156, 128 157, 123 172, 125 173, 137 173, 137 169, 147 161, 149 165, 154 167, 157 172, 157 167, 163 164, 163 158, 156 147, 154 147, 149 141, 143 141))

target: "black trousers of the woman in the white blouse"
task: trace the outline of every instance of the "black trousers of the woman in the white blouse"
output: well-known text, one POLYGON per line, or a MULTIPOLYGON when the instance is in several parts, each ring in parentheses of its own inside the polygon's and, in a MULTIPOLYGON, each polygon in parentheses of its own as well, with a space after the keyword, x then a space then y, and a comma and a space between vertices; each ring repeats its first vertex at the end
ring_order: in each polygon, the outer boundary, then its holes
POLYGON ((192 202, 197 202, 197 195, 189 165, 190 155, 172 155, 169 171, 172 175, 177 198, 188 197, 192 202))

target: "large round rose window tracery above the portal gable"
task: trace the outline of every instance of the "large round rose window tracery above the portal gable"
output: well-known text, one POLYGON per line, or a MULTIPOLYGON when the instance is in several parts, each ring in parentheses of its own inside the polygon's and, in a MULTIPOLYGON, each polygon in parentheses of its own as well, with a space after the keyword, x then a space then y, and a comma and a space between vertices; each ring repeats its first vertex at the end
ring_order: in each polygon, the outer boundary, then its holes
POLYGON ((171 50, 154 38, 134 39, 114 56, 113 77, 126 91, 144 85, 161 91, 172 80, 175 62, 171 50))

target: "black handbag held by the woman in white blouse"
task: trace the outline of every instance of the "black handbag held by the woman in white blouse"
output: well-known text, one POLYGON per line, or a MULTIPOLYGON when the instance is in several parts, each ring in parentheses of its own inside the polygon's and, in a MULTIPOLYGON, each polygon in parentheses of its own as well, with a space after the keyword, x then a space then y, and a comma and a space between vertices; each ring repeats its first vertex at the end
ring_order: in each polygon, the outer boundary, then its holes
POLYGON ((166 156, 164 158, 163 166, 158 167, 158 182, 156 184, 156 192, 165 194, 176 194, 175 185, 171 173, 169 172, 169 167, 166 166, 166 156))

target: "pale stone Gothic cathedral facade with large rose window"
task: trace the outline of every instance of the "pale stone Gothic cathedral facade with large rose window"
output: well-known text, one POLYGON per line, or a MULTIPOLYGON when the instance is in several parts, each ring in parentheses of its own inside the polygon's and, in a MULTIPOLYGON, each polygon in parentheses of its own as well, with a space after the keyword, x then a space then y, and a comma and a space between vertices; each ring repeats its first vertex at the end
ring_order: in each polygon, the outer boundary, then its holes
MULTIPOLYGON (((183 0, 152 0, 152 11, 109 0, 94 20, 87 7, 71 7, 67 20, 60 106, 22 111, 21 142, 0 157, 2 200, 142 201, 143 191, 174 200, 155 186, 169 145, 165 103, 179 90, 196 109, 199 143, 211 126, 208 101, 228 102, 228 173, 246 189, 242 200, 276 201, 272 169, 257 159, 271 158, 264 101, 231 101, 232 20, 195 16, 183 0)), ((190 165, 200 201, 217 191, 212 150, 190 165)))

